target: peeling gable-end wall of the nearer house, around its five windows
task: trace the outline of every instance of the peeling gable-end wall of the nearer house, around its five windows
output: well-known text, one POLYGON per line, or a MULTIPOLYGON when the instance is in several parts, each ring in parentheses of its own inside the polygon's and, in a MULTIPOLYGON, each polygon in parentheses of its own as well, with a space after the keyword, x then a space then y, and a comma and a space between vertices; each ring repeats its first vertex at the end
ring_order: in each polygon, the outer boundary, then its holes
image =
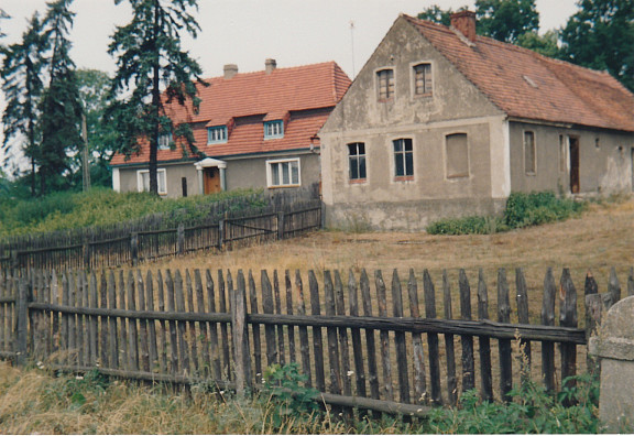
POLYGON ((422 229, 431 218, 494 212, 509 195, 507 128, 489 102, 403 19, 365 64, 319 132, 327 222, 422 229), (413 65, 430 63, 433 95, 413 92, 413 65), (394 69, 392 101, 379 101, 376 72, 394 69), (466 133, 469 175, 447 176, 446 137, 466 133), (392 141, 413 140, 414 177, 396 181, 392 141), (363 142, 368 176, 349 179, 348 143, 363 142), (491 154, 495 144, 496 154, 491 154))

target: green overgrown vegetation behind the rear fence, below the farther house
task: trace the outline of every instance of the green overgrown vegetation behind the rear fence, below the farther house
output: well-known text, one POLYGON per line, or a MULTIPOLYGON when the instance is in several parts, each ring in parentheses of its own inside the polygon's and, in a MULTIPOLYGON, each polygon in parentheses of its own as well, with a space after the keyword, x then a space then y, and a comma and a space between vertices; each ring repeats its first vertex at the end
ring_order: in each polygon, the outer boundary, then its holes
POLYGON ((256 193, 237 189, 171 199, 149 193, 119 194, 112 189, 94 188, 88 193, 57 193, 30 200, 6 199, 0 204, 0 238, 110 226, 151 214, 171 214, 176 222, 184 218, 195 220, 206 212, 205 205, 256 193))

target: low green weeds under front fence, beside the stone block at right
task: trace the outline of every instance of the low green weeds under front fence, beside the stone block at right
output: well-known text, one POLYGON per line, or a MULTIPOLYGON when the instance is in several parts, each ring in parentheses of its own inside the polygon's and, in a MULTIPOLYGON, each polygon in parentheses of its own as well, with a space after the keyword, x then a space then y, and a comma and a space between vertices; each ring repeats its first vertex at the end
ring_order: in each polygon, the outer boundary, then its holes
POLYGON ((576 381, 576 388, 554 396, 525 379, 510 392, 513 400, 506 404, 481 401, 478 391, 468 391, 459 407, 433 410, 425 429, 438 434, 595 434, 599 381, 590 375, 576 381), (573 399, 576 405, 565 407, 564 397, 573 399))

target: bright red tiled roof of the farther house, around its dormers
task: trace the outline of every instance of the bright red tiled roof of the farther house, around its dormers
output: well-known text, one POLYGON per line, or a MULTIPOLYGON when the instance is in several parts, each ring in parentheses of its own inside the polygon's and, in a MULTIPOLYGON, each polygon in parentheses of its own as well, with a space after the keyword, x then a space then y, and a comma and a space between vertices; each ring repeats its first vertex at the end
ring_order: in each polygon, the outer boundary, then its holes
MULTIPOLYGON (((194 113, 190 103, 167 106, 167 116, 177 124, 197 123, 193 128, 195 145, 208 156, 266 153, 308 149, 314 137, 350 86, 350 79, 335 63, 321 63, 266 72, 242 73, 232 78, 207 79, 208 87, 198 87, 200 110, 194 113), (264 140, 263 122, 285 120, 284 138, 264 140), (222 144, 207 144, 205 127, 227 126, 229 138, 222 144), (201 123, 201 124, 198 124, 201 123)), ((110 164, 147 162, 146 144, 139 154, 125 160, 116 154, 110 164)), ((160 150, 158 162, 182 160, 183 151, 160 150)), ((186 156, 185 156, 186 157, 186 156)))

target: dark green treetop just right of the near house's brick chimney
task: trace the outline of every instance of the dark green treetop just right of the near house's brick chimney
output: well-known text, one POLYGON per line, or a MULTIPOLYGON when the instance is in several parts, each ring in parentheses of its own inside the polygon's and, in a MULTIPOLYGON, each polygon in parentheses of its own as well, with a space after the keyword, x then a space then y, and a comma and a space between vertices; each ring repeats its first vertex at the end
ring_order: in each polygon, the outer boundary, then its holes
POLYGON ((535 0, 476 0, 478 33, 515 43, 526 32, 539 30, 535 0))

